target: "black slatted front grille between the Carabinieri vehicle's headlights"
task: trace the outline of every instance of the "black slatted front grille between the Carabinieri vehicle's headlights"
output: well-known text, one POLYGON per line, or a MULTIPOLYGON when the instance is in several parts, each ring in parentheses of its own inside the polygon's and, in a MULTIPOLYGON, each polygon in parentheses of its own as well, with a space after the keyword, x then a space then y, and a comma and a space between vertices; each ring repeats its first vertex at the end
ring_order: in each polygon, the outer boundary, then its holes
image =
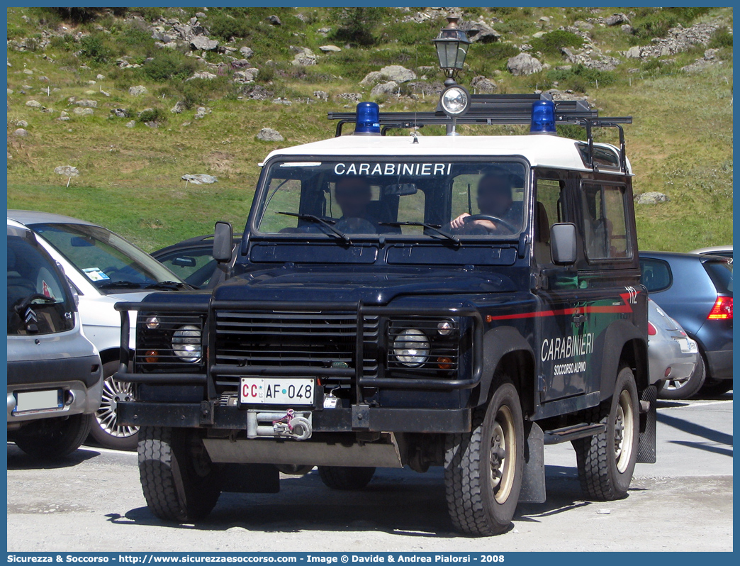
MULTIPOLYGON (((356 313, 241 312, 215 313, 215 363, 237 367, 356 366, 356 313)), ((363 318, 363 376, 377 376, 379 319, 363 318)), ((221 386, 238 383, 219 376, 221 386)), ((349 384, 351 377, 322 378, 325 384, 349 384)))

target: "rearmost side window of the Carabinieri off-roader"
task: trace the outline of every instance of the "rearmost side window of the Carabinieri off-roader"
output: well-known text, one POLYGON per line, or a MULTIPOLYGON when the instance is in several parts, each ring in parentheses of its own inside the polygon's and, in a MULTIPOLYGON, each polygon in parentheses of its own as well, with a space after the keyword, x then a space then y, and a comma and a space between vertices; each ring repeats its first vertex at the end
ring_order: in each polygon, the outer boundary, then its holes
POLYGON ((586 257, 590 260, 631 257, 625 187, 584 184, 582 202, 586 257))

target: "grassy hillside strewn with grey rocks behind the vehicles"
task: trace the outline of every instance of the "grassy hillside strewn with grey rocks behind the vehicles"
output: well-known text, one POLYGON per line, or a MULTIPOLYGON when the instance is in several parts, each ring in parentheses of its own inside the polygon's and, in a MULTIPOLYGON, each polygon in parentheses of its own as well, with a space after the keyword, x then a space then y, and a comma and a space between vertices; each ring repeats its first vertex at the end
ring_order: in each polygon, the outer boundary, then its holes
MULTIPOLYGON (((7 10, 8 39, 13 40, 7 50, 8 207, 99 222, 146 250, 209 233, 217 219, 229 220, 239 230, 249 212, 260 160, 277 147, 332 136, 335 124, 326 120, 326 112, 354 107, 341 95, 373 99, 372 85, 359 84, 367 73, 401 64, 420 76, 414 84, 401 84, 397 96, 376 97, 386 110, 430 110, 437 101, 433 90, 443 77, 430 40, 443 27, 442 12, 212 8, 205 17, 197 16, 198 23, 211 39, 230 48, 226 53, 209 51, 200 59, 193 55, 201 52, 187 46, 155 44, 153 26, 169 30, 168 20, 187 23, 200 10, 7 10), (273 15, 280 25, 269 23, 273 15), (341 51, 323 53, 319 47, 326 44, 341 51), (254 52, 249 57, 249 67, 259 70, 254 83, 233 81, 239 67, 232 59, 240 58, 243 46, 254 52), (291 46, 308 47, 317 64, 292 64, 296 50, 291 46), (121 67, 124 56, 129 67, 121 67), (185 80, 199 72, 215 78, 185 80), (131 96, 129 87, 137 85, 147 87, 147 93, 131 96), (255 88, 266 99, 252 99, 255 88), (317 90, 328 100, 317 99, 317 90), (278 97, 291 104, 276 104, 278 97), (30 100, 44 108, 27 107, 30 100), (75 102, 84 100, 97 104, 92 116, 74 113, 81 108, 75 102), (178 102, 184 110, 172 113, 178 102), (198 107, 207 110, 196 119, 198 107), (121 110, 122 117, 112 110, 121 110), (59 120, 62 112, 68 120, 59 120), (127 127, 131 121, 134 126, 127 127), (25 136, 16 135, 19 126, 25 136), (256 139, 262 127, 278 130, 285 141, 256 139), (60 165, 80 172, 70 187, 67 178, 54 173, 60 165), (186 173, 209 173, 218 182, 186 187, 181 181, 186 173)), ((471 45, 462 84, 485 76, 499 93, 571 89, 589 96, 602 115, 633 116, 625 130, 635 191, 656 190, 670 198, 636 205, 642 249, 680 251, 732 240, 730 9, 463 9, 464 20, 480 18, 501 37, 471 45), (599 24, 599 17, 616 12, 629 17, 631 30, 599 24), (653 37, 665 36, 676 24, 689 27, 702 21, 724 26, 707 45, 645 60, 623 55, 633 45, 650 45, 653 37), (568 63, 560 47, 577 50, 583 38, 559 27, 577 22, 594 47, 619 59, 616 68, 562 68, 568 63), (530 76, 511 75, 506 61, 524 44, 550 68, 530 76), (719 49, 711 64, 697 73, 684 72, 682 67, 702 58, 707 47, 719 49)), ((610 133, 599 136, 615 141, 610 133)))

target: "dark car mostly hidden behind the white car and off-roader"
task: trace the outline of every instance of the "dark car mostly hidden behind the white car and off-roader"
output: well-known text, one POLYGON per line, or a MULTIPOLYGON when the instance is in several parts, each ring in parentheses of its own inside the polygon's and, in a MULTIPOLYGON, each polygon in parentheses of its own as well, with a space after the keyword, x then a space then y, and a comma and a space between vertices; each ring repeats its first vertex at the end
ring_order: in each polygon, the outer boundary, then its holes
MULTIPOLYGON (((240 238, 234 239, 234 247, 240 238)), ((164 264, 180 279, 198 289, 212 289, 223 281, 223 271, 219 270, 213 252, 213 234, 196 236, 163 247, 152 253, 152 257, 164 264)))

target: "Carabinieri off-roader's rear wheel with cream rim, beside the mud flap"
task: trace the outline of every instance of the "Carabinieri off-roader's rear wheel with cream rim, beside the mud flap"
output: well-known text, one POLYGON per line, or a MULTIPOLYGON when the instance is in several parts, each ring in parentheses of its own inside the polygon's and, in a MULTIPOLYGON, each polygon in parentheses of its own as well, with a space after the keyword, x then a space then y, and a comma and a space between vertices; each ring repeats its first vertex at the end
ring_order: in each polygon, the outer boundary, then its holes
POLYGON ((589 422, 606 431, 573 441, 581 489, 594 501, 624 499, 632 481, 639 440, 639 406, 635 377, 629 367, 616 376, 614 395, 587 411, 589 422))

